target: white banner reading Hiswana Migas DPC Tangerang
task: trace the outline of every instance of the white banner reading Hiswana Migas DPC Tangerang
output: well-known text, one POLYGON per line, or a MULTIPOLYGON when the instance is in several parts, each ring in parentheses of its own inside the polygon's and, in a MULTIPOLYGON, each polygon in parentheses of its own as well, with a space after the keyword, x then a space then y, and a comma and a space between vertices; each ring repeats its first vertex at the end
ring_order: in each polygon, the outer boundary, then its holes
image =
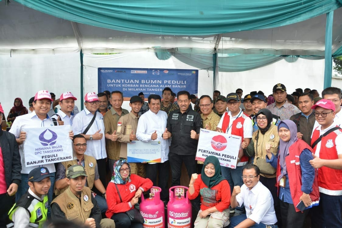
POLYGON ((23 144, 25 166, 44 165, 73 160, 69 125, 26 128, 23 144))

